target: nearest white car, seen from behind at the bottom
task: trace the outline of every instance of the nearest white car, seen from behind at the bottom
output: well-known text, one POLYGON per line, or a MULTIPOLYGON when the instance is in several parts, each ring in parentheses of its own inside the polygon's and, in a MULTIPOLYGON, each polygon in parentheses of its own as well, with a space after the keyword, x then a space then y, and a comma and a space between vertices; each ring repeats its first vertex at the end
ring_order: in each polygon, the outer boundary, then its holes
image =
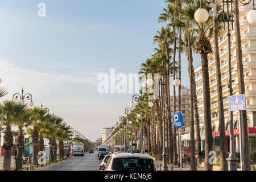
POLYGON ((148 154, 115 153, 112 154, 106 166, 100 170, 105 171, 156 171, 152 157, 148 154))

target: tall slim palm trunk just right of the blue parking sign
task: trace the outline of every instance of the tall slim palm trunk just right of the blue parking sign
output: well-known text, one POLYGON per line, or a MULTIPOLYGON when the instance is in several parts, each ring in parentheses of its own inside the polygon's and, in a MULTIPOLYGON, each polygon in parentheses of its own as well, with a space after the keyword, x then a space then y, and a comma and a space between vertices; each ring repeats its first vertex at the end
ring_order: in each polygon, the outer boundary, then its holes
POLYGON ((191 171, 196 171, 196 148, 195 148, 195 127, 194 127, 194 97, 193 97, 193 83, 195 76, 193 75, 192 65, 193 65, 193 56, 192 56, 192 48, 191 48, 191 38, 190 33, 188 34, 188 71, 189 71, 189 87, 191 88, 191 92, 189 94, 190 97, 190 145, 191 145, 191 171))

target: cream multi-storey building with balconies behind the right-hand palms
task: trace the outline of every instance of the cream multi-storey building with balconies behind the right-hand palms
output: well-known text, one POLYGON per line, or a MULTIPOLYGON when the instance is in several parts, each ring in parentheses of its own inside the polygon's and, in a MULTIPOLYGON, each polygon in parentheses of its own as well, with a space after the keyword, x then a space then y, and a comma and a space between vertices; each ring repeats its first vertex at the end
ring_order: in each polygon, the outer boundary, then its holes
MULTIPOLYGON (((249 24, 246 20, 246 14, 252 9, 252 5, 240 7, 240 28, 241 28, 241 42, 242 42, 242 55, 243 55, 243 72, 245 80, 245 96, 246 96, 246 110, 247 110, 247 124, 249 131, 250 151, 256 150, 256 24, 249 24)), ((231 24, 230 24, 231 27, 231 24)), ((238 95, 238 73, 237 73, 237 60, 236 60, 236 36, 232 30, 231 33, 231 61, 232 61, 232 86, 233 95, 238 95)), ((213 39, 210 40, 213 51, 213 39)), ((229 59, 228 59, 228 35, 224 34, 218 39, 219 53, 220 53, 220 66, 221 66, 221 81, 222 81, 222 94, 225 115, 225 130, 226 130, 226 147, 230 152, 229 144, 229 59)), ((217 93, 217 79, 216 79, 216 66, 214 53, 208 55, 209 65, 209 82, 210 82, 210 108, 212 114, 212 131, 214 138, 214 150, 220 151, 220 137, 218 129, 218 93, 217 93)), ((196 94, 197 105, 199 107, 200 127, 201 134, 204 134, 204 113, 203 113, 203 78, 201 67, 195 70, 196 76, 196 94)), ((234 144, 236 151, 239 151, 239 111, 233 112, 234 116, 234 144)), ((204 150, 204 140, 202 141, 204 150)))

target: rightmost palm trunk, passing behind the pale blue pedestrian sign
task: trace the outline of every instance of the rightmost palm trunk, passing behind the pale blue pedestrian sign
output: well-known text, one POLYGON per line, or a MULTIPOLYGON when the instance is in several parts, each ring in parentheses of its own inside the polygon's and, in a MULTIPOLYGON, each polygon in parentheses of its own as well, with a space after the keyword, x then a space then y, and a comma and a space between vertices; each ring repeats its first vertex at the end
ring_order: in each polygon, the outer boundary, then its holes
MULTIPOLYGON (((238 72, 238 90, 239 94, 245 94, 245 81, 243 79, 243 63, 242 63, 242 43, 239 22, 239 9, 238 0, 234 1, 236 13, 234 14, 234 24, 236 32, 236 54, 237 54, 237 72, 238 72)), ((242 139, 243 139, 243 163, 244 170, 250 171, 250 148, 249 148, 249 135, 247 129, 247 115, 246 110, 242 110, 242 139)))

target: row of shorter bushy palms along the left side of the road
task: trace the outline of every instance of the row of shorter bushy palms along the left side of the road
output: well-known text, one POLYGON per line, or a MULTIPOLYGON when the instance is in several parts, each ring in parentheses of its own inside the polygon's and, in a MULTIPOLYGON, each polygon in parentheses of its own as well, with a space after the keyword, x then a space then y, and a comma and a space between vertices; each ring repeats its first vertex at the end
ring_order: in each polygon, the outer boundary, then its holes
MULTIPOLYGON (((6 90, 0 89, 0 98, 7 94, 6 90)), ((48 110, 41 107, 30 108, 27 104, 13 100, 4 100, 0 103, 0 125, 3 133, 3 170, 11 169, 11 149, 14 145, 13 127, 18 128, 16 137, 16 159, 22 159, 24 154, 24 131, 30 135, 32 141, 32 164, 38 164, 38 152, 44 151, 44 139, 49 140, 51 159, 57 160, 57 148, 59 147, 59 159, 64 158, 64 143, 83 142, 86 147, 92 146, 89 140, 76 137, 72 139, 73 131, 63 118, 51 115, 48 110), (55 143, 52 147, 51 143, 55 143)), ((1 134, 0 133, 0 134, 1 134)), ((1 137, 1 135, 0 135, 1 137)))

